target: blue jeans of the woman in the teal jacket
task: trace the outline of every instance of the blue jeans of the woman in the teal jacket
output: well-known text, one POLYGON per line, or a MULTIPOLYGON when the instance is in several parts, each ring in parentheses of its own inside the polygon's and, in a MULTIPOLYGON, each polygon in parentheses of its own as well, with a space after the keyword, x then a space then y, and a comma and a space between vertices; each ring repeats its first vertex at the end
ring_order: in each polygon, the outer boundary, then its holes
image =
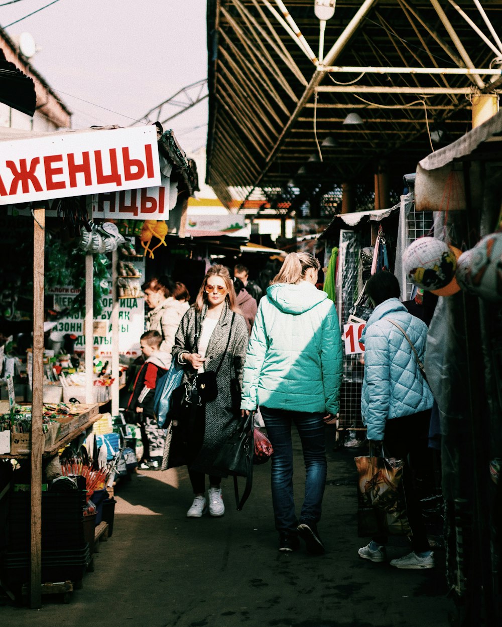
POLYGON ((305 462, 305 495, 301 522, 318 522, 326 484, 326 443, 323 414, 306 411, 286 411, 260 407, 267 436, 274 448, 272 455, 272 504, 275 529, 296 534, 298 525, 294 513, 293 448, 291 425, 294 423, 302 443, 305 462))

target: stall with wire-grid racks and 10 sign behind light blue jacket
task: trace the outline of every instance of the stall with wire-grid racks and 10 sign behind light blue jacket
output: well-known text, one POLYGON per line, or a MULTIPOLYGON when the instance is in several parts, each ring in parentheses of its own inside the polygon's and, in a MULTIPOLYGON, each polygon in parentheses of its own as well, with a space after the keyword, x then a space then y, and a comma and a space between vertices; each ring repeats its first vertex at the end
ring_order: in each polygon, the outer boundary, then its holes
POLYGON ((361 416, 364 345, 358 340, 371 314, 364 285, 376 270, 388 269, 398 277, 403 300, 415 296, 402 271, 407 243, 427 233, 432 213, 414 210, 412 177, 405 177, 400 203, 388 209, 339 214, 319 236, 324 243, 324 291, 336 304, 343 330, 343 380, 340 393, 338 437, 345 446, 358 445, 365 426, 361 416))

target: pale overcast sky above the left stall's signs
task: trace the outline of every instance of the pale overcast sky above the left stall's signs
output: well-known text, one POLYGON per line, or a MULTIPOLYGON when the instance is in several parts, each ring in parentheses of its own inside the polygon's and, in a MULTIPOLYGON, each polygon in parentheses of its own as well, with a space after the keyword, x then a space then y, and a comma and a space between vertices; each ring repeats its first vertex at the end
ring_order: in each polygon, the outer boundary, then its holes
MULTIPOLYGON (((31 62, 72 110, 75 129, 128 126, 207 76, 206 0, 57 0, 8 26, 51 1, 0 6, 0 25, 10 36, 33 36, 41 50, 31 62)), ((187 152, 198 149, 207 100, 166 127, 187 152)))

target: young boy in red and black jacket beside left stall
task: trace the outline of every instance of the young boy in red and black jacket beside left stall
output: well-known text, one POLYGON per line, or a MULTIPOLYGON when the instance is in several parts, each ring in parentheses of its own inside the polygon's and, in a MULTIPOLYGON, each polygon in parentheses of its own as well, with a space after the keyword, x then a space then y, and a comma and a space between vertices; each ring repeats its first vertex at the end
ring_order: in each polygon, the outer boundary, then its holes
POLYGON ((160 468, 164 452, 165 431, 159 429, 153 413, 153 399, 157 382, 168 370, 170 355, 160 350, 162 335, 158 331, 147 331, 140 338, 141 352, 145 358, 132 388, 127 414, 136 414, 136 422, 141 426, 141 439, 144 446, 143 470, 160 468))

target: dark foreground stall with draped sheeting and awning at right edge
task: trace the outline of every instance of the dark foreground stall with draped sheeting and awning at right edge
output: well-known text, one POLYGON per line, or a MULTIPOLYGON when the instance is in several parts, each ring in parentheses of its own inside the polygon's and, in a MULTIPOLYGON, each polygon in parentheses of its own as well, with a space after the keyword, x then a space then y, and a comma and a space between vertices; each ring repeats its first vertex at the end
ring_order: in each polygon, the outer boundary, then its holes
POLYGON ((429 327, 439 406, 447 582, 458 624, 499 624, 502 581, 502 112, 419 162, 417 211, 459 248, 429 327))

